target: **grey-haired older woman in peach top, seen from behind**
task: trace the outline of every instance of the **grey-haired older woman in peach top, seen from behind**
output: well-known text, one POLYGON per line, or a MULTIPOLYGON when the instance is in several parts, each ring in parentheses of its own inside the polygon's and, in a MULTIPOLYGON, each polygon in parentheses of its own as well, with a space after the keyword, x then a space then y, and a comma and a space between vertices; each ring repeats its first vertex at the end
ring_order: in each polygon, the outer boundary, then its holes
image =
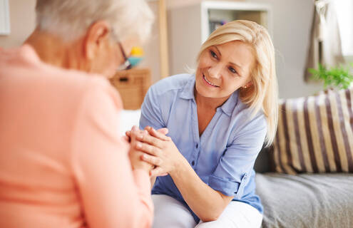
POLYGON ((38 0, 36 14, 25 44, 0 50, 0 227, 149 227, 151 165, 118 137, 106 77, 148 35, 150 9, 38 0))

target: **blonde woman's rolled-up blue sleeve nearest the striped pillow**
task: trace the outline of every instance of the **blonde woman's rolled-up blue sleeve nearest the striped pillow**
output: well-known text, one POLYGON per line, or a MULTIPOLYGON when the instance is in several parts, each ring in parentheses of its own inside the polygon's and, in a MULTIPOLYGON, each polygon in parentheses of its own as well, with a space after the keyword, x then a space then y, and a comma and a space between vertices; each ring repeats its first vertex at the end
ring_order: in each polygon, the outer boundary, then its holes
POLYGON ((240 199, 249 182, 256 157, 260 152, 267 132, 264 115, 257 115, 233 135, 220 162, 210 175, 208 185, 213 190, 240 199))

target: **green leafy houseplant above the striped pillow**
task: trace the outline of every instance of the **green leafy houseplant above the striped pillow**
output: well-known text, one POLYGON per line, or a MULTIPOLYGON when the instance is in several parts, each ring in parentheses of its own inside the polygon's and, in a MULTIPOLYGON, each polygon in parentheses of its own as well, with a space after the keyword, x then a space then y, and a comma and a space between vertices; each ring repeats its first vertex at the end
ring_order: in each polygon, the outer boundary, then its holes
POLYGON ((334 66, 327 68, 319 64, 317 69, 309 68, 309 73, 312 74, 311 78, 324 82, 324 89, 338 88, 346 89, 353 82, 353 63, 350 66, 334 66))

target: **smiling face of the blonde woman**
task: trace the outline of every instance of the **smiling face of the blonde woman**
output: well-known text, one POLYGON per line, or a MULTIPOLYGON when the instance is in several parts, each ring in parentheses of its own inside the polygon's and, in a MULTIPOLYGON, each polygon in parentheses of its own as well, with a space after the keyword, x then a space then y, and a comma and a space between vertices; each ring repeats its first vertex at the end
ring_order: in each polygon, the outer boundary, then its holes
POLYGON ((230 41, 210 46, 200 55, 195 88, 207 98, 228 98, 242 86, 251 86, 250 72, 255 64, 250 45, 230 41))

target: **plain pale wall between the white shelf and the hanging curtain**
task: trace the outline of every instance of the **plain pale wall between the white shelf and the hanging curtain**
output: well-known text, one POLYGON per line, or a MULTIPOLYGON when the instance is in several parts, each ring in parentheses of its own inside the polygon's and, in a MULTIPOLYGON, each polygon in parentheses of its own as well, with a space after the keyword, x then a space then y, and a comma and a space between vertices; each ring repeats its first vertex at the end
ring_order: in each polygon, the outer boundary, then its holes
POLYGON ((309 33, 314 12, 310 0, 247 0, 272 6, 273 43, 276 48, 280 98, 311 95, 321 90, 320 83, 304 81, 309 33))

